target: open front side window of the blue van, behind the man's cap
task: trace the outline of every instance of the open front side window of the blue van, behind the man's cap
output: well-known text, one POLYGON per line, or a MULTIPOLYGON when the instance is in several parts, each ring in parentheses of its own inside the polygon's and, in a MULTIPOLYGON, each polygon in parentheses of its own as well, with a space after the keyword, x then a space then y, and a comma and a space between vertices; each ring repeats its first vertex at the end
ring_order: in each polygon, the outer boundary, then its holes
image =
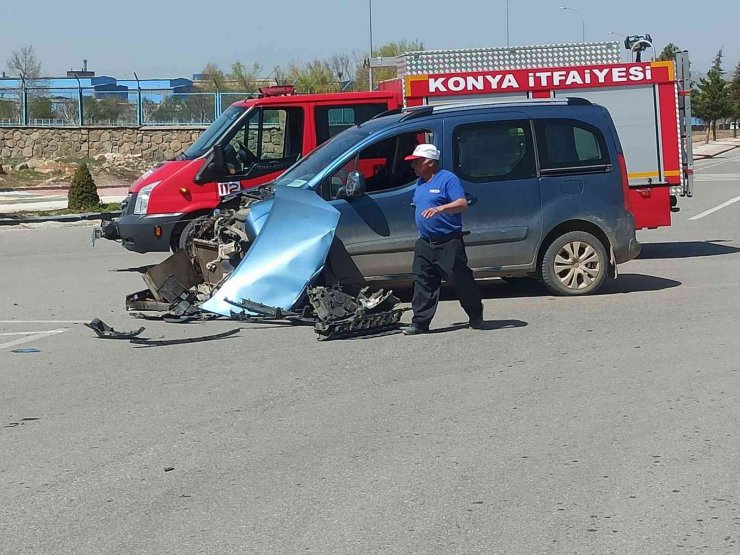
POLYGON ((337 198, 346 184, 349 172, 357 170, 365 177, 368 193, 403 187, 416 181, 411 162, 404 160, 417 144, 433 143, 434 133, 420 129, 387 137, 365 147, 359 155, 347 160, 322 186, 324 198, 337 198))

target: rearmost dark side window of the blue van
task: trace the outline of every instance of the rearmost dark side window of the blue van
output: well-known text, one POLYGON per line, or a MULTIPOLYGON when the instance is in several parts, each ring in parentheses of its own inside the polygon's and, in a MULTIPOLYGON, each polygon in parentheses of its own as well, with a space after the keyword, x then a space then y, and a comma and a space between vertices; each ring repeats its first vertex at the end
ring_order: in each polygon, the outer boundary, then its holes
POLYGON ((535 131, 543 170, 609 164, 604 135, 592 125, 566 119, 538 120, 535 131))

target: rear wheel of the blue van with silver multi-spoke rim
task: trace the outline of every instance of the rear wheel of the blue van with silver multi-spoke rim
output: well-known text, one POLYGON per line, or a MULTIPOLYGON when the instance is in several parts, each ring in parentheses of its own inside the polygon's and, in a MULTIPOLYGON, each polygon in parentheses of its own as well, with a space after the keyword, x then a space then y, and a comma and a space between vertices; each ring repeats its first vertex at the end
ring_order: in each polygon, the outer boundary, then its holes
POLYGON ((594 293, 604 283, 609 259, 601 241, 585 231, 556 238, 542 259, 542 281, 556 295, 594 293))

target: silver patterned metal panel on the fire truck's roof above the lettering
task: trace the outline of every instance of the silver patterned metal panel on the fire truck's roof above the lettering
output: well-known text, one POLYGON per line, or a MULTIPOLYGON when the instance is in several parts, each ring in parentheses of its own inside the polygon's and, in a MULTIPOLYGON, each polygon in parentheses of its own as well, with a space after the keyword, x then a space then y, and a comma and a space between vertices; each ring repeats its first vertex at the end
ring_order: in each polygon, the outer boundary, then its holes
POLYGON ((618 64, 621 61, 618 42, 425 50, 408 52, 401 58, 398 64, 399 77, 455 71, 618 64))

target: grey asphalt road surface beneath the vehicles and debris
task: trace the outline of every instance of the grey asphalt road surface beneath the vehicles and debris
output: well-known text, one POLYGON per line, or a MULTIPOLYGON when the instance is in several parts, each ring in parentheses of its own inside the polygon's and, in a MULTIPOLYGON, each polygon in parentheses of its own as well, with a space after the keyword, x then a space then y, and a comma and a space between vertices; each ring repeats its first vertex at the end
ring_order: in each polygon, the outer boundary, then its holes
POLYGON ((99 340, 238 324, 131 319, 161 255, 0 229, 0 552, 736 553, 740 202, 701 214, 739 180, 699 162, 599 295, 495 280, 416 337, 99 340))

